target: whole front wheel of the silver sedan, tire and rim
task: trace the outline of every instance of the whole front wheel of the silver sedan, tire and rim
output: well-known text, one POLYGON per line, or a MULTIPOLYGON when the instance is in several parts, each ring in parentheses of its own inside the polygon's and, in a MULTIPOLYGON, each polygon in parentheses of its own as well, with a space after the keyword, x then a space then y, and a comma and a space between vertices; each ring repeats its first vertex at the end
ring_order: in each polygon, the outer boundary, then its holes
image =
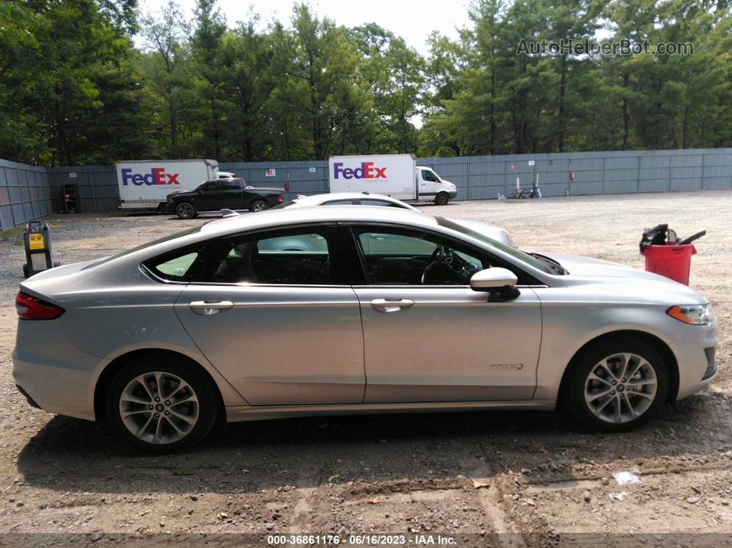
POLYGON ((577 356, 565 395, 582 424, 623 432, 649 421, 666 394, 668 372, 660 354, 640 340, 614 339, 577 356))

